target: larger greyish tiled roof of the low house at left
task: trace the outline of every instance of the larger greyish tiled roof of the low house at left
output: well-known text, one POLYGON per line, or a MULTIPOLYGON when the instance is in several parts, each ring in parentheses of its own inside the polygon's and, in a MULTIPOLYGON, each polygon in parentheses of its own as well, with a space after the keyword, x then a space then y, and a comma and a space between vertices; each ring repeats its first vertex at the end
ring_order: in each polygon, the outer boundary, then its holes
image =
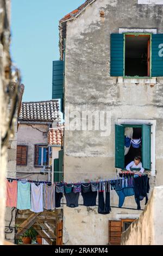
POLYGON ((61 122, 59 102, 56 100, 22 102, 18 119, 20 121, 61 122))

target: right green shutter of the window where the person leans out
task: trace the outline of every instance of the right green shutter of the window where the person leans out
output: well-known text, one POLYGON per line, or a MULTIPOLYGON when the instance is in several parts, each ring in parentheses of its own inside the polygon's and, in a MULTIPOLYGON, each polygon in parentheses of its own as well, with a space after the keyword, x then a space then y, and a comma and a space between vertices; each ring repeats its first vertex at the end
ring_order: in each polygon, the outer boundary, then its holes
POLYGON ((151 169, 151 126, 142 125, 142 166, 151 169))

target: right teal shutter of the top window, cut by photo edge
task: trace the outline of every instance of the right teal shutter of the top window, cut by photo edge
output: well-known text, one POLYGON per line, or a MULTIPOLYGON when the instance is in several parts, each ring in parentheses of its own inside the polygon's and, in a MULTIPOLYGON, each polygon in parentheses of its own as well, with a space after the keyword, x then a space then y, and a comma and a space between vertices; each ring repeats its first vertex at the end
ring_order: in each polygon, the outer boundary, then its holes
POLYGON ((163 34, 152 35, 152 76, 163 76, 163 34))

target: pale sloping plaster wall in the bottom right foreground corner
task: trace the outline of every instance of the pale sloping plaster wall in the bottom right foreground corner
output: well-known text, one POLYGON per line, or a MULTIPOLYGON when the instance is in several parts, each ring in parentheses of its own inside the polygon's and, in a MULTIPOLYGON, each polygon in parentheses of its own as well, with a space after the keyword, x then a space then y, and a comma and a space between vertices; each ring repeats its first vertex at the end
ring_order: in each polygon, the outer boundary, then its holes
POLYGON ((139 220, 122 235, 122 245, 162 245, 163 186, 155 187, 139 220))

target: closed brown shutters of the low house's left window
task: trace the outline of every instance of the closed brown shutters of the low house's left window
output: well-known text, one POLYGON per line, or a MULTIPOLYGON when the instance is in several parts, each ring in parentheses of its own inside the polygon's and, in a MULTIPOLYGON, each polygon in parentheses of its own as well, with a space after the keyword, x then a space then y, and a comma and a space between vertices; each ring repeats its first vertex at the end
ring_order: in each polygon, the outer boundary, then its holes
POLYGON ((16 164, 17 166, 27 166, 27 146, 17 146, 16 164))

